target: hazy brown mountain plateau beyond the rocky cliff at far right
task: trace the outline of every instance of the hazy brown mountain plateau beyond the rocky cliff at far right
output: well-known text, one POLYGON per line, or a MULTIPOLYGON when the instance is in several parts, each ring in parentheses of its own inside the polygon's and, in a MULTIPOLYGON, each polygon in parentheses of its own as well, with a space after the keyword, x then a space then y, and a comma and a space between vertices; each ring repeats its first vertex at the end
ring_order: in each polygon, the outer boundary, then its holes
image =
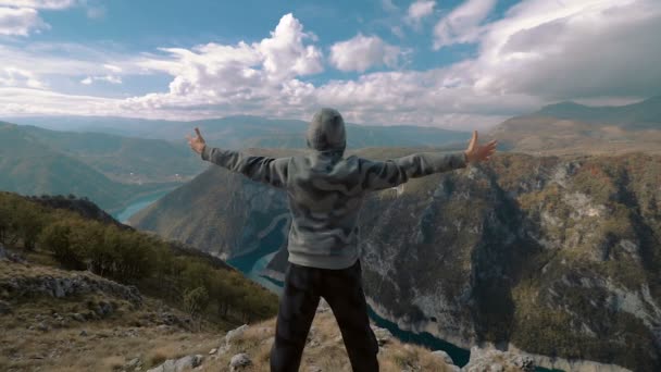
POLYGON ((620 107, 551 104, 504 121, 487 138, 534 154, 661 153, 661 97, 620 107))

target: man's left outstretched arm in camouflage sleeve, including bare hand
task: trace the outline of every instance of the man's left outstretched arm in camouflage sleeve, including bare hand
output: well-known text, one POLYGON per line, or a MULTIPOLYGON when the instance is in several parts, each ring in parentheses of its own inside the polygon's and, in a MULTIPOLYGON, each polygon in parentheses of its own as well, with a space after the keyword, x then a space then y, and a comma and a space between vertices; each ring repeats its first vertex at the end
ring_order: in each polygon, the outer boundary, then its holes
POLYGON ((248 156, 246 153, 207 146, 200 131, 196 127, 197 137, 189 137, 190 148, 203 160, 221 165, 232 172, 242 173, 250 179, 284 187, 287 182, 289 158, 269 158, 248 156))

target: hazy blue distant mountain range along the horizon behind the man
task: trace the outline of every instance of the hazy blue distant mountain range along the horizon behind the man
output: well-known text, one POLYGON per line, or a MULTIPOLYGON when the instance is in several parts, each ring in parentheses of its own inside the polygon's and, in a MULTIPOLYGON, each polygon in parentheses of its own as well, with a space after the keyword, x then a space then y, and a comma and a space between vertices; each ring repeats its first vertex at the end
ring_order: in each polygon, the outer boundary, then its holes
MULTIPOLYGON (((301 120, 279 120, 235 115, 199 121, 164 121, 112 116, 24 116, 8 117, 9 122, 36 125, 67 132, 96 132, 127 137, 163 139, 184 142, 186 134, 199 127, 204 138, 216 146, 232 149, 246 147, 304 148, 308 123, 301 120)), ((417 125, 347 124, 349 148, 379 146, 439 146, 464 140, 464 132, 417 125)))

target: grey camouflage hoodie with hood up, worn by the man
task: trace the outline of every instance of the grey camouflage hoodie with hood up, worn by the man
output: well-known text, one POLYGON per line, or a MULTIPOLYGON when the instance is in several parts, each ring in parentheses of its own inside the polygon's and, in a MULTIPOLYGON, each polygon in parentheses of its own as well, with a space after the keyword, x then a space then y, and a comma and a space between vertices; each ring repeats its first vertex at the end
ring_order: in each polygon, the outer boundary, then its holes
POLYGON ((358 218, 366 193, 466 166, 463 152, 419 152, 386 161, 344 158, 346 140, 339 112, 322 109, 308 127, 309 154, 274 159, 207 146, 201 157, 287 191, 289 262, 345 269, 360 256, 358 218))

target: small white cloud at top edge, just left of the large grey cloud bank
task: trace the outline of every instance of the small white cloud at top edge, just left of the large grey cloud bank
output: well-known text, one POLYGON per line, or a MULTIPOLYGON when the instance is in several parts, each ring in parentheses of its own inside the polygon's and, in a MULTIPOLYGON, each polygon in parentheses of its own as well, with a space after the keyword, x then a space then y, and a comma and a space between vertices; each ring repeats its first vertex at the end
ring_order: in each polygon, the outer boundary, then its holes
POLYGON ((452 10, 434 27, 434 49, 476 41, 481 24, 495 5, 496 0, 466 0, 452 10))

